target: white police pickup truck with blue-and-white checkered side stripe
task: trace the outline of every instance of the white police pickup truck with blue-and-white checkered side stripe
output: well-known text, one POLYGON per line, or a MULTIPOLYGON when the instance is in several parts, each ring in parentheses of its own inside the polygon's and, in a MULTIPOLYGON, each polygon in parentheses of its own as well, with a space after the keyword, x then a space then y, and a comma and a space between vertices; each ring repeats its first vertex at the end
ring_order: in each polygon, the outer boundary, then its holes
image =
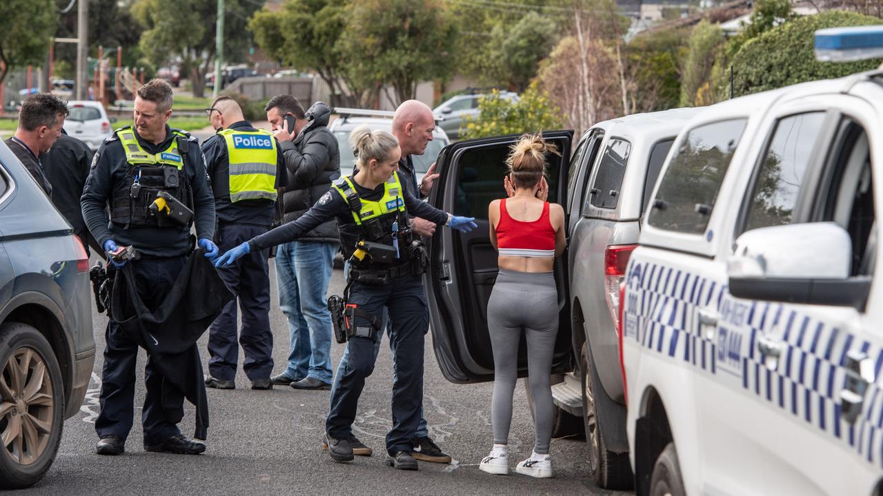
POLYGON ((621 295, 637 493, 881 493, 883 71, 713 105, 663 167, 621 295))

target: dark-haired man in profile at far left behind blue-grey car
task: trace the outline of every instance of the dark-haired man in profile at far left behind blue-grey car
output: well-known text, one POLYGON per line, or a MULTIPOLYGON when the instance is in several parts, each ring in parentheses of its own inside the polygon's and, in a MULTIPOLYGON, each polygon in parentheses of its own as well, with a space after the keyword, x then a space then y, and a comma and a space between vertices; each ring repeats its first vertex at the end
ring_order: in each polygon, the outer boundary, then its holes
POLYGON ((19 111, 19 128, 6 140, 6 145, 19 157, 47 196, 52 194, 52 184, 49 184, 38 157, 48 152, 61 136, 64 117, 69 113, 64 100, 54 94, 28 95, 19 111))

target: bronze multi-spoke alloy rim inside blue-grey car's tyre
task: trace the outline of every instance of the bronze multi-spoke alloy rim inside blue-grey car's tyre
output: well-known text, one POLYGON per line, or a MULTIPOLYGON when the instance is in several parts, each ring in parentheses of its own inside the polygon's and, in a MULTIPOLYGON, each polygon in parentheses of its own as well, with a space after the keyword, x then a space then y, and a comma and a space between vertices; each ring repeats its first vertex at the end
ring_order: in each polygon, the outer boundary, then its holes
POLYGON ((0 371, 0 442, 20 465, 36 462, 49 445, 55 403, 45 359, 24 346, 0 371))

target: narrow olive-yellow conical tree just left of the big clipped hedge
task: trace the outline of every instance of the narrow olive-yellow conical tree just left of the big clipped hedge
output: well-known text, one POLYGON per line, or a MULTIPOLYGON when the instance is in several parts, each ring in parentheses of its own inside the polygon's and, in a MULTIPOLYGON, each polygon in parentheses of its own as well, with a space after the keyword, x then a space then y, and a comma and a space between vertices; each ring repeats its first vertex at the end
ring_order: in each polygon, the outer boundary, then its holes
POLYGON ((709 81, 712 78, 714 60, 723 43, 721 27, 702 20, 693 27, 687 41, 687 56, 683 61, 681 79, 681 106, 707 105, 709 81), (700 90, 703 90, 700 92, 700 90))

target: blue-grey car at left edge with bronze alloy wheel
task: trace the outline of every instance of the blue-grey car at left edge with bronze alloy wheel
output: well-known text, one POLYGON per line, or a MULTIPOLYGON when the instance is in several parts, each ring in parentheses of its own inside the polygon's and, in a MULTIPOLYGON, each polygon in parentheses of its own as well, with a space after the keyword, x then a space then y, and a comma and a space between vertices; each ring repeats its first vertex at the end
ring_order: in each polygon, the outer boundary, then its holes
POLYGON ((71 225, 0 142, 0 489, 40 480, 86 395, 88 272, 71 225))

